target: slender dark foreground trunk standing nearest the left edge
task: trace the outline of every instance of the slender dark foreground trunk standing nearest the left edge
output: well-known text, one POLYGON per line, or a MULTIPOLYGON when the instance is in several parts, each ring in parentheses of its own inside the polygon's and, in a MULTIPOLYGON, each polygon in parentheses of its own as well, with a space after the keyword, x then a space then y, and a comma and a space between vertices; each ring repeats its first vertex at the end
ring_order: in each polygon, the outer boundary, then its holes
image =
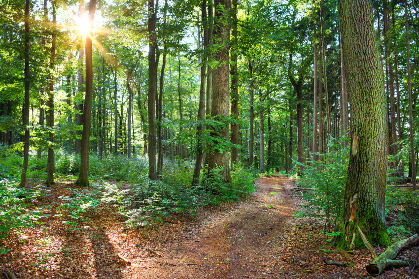
POLYGON ((25 103, 23 104, 22 119, 23 125, 25 126, 25 135, 23 136, 23 170, 20 176, 19 187, 25 187, 26 185, 26 173, 28 171, 29 162, 29 93, 30 93, 30 76, 29 76, 29 7, 30 0, 25 1, 25 50, 24 50, 24 78, 25 78, 25 103))

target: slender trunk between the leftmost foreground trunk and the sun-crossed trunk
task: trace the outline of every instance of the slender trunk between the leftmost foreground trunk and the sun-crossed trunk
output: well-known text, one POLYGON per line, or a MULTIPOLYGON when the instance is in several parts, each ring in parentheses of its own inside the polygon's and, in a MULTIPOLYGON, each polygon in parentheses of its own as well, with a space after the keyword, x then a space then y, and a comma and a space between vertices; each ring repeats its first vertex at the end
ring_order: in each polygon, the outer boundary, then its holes
MULTIPOLYGON (((52 26, 55 28, 57 25, 56 21, 56 2, 52 1, 52 26)), ((50 68, 53 68, 54 60, 55 60, 55 44, 56 44, 56 38, 55 34, 52 34, 51 38, 51 58, 50 58, 50 68)), ((47 125, 51 129, 54 127, 54 77, 52 73, 49 76, 49 82, 48 82, 48 115, 47 115, 47 125)), ((50 145, 54 144, 54 133, 50 131, 48 133, 48 142, 50 145)), ((54 146, 48 147, 48 160, 47 160, 47 179, 46 184, 52 185, 54 184, 54 173, 55 173, 55 154, 54 154, 54 146)))

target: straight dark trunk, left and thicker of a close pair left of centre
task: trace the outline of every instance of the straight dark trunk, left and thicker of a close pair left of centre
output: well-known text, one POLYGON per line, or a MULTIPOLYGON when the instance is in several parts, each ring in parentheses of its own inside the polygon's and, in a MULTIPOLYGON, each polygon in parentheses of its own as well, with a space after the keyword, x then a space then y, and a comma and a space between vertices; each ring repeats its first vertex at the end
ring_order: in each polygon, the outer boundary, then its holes
POLYGON ((148 178, 157 179, 156 165, 156 14, 154 12, 154 0, 148 1, 148 178))

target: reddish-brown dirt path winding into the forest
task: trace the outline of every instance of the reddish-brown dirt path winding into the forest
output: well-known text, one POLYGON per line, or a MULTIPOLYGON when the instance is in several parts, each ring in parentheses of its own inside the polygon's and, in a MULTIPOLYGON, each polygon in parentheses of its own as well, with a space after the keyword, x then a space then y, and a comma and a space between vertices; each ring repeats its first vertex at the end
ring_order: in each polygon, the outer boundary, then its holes
POLYGON ((132 274, 138 278, 194 279, 269 276, 273 272, 269 267, 279 256, 273 253, 274 245, 295 210, 286 190, 289 182, 284 176, 258 179, 251 197, 229 212, 208 216, 180 240, 169 241, 163 256, 154 258, 148 270, 140 265, 132 274))

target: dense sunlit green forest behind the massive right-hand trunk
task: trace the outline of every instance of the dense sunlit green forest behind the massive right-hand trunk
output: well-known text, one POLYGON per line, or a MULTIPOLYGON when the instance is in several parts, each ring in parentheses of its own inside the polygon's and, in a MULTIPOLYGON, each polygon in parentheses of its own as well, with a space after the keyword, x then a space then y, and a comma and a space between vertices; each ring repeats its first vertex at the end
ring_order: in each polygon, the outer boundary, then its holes
MULTIPOLYGON (((416 190, 419 2, 372 6, 388 181, 416 190)), ((63 177, 129 181, 121 208, 148 224, 205 204, 185 189, 229 200, 276 171, 302 175, 325 227, 339 222, 353 108, 337 1, 9 0, 0 24, 8 196, 63 177)))

